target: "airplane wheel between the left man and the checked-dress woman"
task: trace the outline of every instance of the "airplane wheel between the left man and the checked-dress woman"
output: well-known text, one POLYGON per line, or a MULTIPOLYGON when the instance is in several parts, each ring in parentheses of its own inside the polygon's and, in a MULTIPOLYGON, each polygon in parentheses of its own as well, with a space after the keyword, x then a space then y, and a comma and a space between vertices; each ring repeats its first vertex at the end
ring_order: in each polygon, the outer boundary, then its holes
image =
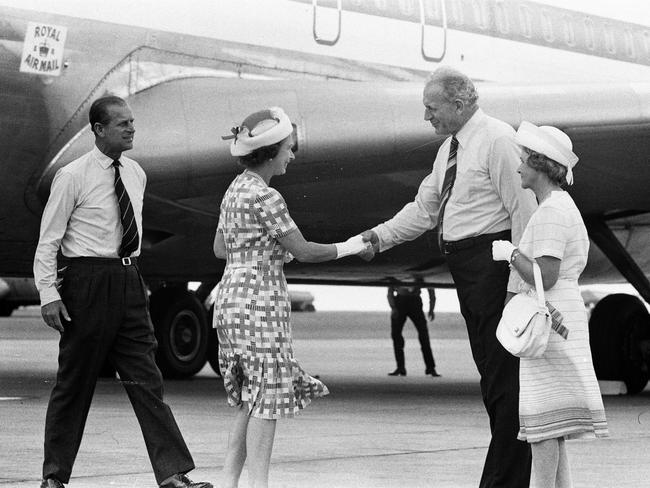
POLYGON ((201 302, 190 291, 163 288, 151 296, 156 362, 165 378, 188 378, 206 360, 208 325, 201 302))

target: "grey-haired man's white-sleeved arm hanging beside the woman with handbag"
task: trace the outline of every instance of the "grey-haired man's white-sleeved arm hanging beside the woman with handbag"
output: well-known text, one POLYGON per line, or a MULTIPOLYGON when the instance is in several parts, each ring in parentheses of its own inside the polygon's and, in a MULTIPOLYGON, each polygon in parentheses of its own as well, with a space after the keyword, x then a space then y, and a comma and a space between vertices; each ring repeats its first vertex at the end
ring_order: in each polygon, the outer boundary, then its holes
MULTIPOLYGON (((517 173, 521 164, 521 148, 514 137, 502 136, 492 144, 489 157, 490 179, 503 206, 510 214, 512 243, 517 246, 530 216, 537 208, 535 195, 521 187, 521 177, 517 173)), ((519 282, 521 278, 517 272, 511 271, 508 291, 517 293, 519 282)))

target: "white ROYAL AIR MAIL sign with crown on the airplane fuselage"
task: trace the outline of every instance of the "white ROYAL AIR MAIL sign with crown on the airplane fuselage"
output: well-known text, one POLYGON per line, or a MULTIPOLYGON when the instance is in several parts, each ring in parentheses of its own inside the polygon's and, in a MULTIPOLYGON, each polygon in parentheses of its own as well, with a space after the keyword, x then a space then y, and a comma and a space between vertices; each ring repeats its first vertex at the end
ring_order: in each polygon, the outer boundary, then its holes
POLYGON ((68 29, 58 25, 29 22, 25 33, 20 71, 59 76, 68 29))

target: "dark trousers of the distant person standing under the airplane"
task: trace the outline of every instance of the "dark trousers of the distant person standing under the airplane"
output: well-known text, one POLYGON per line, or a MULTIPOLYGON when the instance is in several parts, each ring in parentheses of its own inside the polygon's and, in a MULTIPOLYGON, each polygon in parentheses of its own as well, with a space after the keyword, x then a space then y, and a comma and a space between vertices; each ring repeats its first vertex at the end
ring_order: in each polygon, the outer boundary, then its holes
POLYGON ((427 329, 427 319, 422 312, 422 299, 416 295, 396 295, 395 308, 390 314, 390 334, 393 338, 393 351, 395 351, 395 361, 398 369, 405 369, 404 361, 404 337, 402 331, 406 319, 410 318, 418 331, 422 357, 427 371, 436 368, 436 362, 431 352, 431 343, 429 342, 429 330, 427 329))

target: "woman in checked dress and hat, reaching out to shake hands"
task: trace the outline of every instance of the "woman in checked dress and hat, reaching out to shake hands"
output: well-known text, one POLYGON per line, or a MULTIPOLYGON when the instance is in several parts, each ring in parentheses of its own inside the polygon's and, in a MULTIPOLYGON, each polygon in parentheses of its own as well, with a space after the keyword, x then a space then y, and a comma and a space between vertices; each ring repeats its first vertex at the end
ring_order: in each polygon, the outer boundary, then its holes
POLYGON ((269 187, 294 159, 294 126, 281 108, 255 112, 232 132, 231 154, 246 169, 223 197, 214 240, 215 255, 226 259, 214 326, 228 403, 237 408, 223 486, 237 486, 248 458, 250 486, 265 487, 276 419, 328 393, 293 355, 283 265, 292 256, 321 262, 358 254, 366 244, 360 235, 336 244, 306 241, 282 195, 269 187))

